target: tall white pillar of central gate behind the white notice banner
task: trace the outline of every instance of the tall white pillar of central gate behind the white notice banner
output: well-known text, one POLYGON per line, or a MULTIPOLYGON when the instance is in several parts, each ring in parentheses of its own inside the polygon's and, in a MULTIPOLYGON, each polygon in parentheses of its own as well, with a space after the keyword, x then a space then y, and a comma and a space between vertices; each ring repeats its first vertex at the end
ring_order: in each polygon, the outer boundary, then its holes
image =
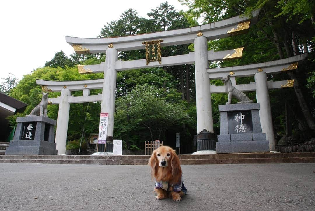
MULTIPOLYGON (((116 48, 106 49, 106 60, 104 70, 104 83, 102 104, 100 107, 101 113, 109 113, 107 136, 113 137, 114 134, 114 112, 115 112, 115 97, 116 97, 116 61, 118 51, 116 48)), ((112 140, 111 140, 112 141, 112 140)))

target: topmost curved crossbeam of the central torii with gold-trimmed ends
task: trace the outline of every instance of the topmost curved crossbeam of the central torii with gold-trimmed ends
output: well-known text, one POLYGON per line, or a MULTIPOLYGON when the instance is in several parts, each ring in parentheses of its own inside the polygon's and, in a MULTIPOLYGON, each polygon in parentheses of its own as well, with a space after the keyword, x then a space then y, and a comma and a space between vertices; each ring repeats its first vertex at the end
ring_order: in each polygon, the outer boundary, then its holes
POLYGON ((258 19, 259 10, 248 17, 235 16, 229 19, 217 21, 200 26, 169 31, 158 31, 152 33, 107 38, 80 38, 66 36, 66 42, 73 46, 77 53, 105 53, 107 48, 114 47, 118 51, 129 51, 144 49, 144 41, 163 40, 161 47, 193 43, 196 34, 201 32, 207 40, 229 37, 236 34, 246 33, 249 26, 255 24, 258 19))

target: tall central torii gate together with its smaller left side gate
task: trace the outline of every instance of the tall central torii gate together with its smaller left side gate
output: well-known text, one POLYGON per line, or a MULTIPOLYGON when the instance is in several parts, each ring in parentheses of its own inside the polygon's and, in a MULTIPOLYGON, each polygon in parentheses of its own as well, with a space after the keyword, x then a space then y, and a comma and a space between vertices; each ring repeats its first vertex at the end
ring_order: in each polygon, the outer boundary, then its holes
MULTIPOLYGON (((201 131, 206 131, 207 133, 213 134, 210 80, 207 73, 209 61, 240 58, 242 56, 243 48, 218 52, 208 51, 207 41, 225 38, 240 33, 246 33, 249 29, 249 26, 257 22, 259 10, 254 11, 252 14, 253 17, 250 20, 246 17, 236 16, 230 19, 201 26, 125 37, 66 37, 66 42, 73 46, 76 53, 106 52, 106 60, 105 62, 101 62, 98 65, 78 66, 79 72, 83 74, 104 72, 104 79, 98 79, 103 80, 102 87, 99 87, 103 89, 103 93, 97 97, 89 96, 89 89, 91 88, 86 81, 80 82, 86 85, 84 88, 81 87, 81 90, 83 90, 82 97, 71 97, 71 91, 74 91, 74 89, 70 89, 70 82, 58 82, 63 86, 60 88, 59 85, 57 89, 54 89, 52 87, 55 86, 55 82, 43 80, 37 81, 38 84, 44 87, 43 90, 61 91, 59 100, 57 100, 58 98, 56 100, 49 99, 53 104, 60 104, 55 138, 59 153, 63 154, 63 152, 65 152, 70 103, 88 102, 88 98, 92 101, 97 101, 101 98, 101 113, 109 113, 107 139, 113 139, 117 77, 116 71, 129 69, 194 63, 196 80, 197 132, 200 133, 201 131), (186 55, 161 57, 160 51, 157 51, 159 60, 152 61, 150 56, 149 58, 147 57, 146 59, 142 60, 117 60, 118 51, 144 48, 146 48, 146 51, 148 51, 147 44, 151 44, 152 42, 157 42, 158 46, 161 47, 194 43, 195 52, 190 52, 186 55)), ((99 85, 100 84, 98 84, 98 86, 99 85)))

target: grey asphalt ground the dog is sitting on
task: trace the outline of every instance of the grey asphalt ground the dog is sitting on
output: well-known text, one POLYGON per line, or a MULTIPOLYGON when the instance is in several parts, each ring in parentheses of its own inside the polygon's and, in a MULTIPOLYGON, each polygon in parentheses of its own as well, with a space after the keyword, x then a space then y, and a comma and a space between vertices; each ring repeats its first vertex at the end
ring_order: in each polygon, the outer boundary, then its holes
POLYGON ((314 210, 315 164, 182 165, 187 195, 156 200, 148 166, 0 164, 0 210, 314 210))

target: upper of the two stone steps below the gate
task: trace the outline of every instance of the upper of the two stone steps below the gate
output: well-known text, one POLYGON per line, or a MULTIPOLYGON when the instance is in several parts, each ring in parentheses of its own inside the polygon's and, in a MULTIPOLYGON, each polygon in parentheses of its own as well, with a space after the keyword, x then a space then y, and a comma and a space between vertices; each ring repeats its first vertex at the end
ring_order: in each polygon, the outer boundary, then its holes
MULTIPOLYGON (((315 152, 295 153, 231 153, 214 155, 179 155, 180 160, 194 159, 241 159, 241 158, 292 158, 315 157, 315 152)), ((0 155, 1 159, 40 159, 40 160, 149 160, 149 155, 0 155)))

